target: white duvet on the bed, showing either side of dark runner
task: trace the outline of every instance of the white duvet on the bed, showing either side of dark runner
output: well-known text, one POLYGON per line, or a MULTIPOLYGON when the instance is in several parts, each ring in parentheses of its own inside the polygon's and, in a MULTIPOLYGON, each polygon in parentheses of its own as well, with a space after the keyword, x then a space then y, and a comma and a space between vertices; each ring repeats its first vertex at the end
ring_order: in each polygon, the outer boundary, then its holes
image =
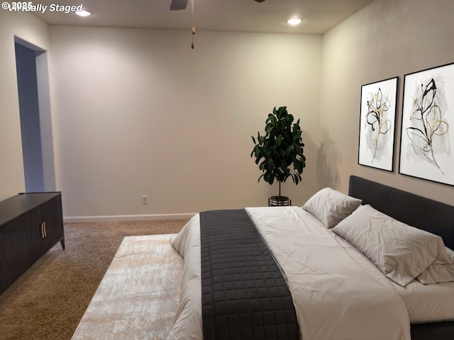
MULTIPOLYGON (((409 315, 392 283, 365 271, 345 244, 297 207, 247 208, 287 279, 303 340, 410 340, 409 315)), ((172 246, 184 257, 181 300, 167 339, 202 339, 199 215, 172 246)))

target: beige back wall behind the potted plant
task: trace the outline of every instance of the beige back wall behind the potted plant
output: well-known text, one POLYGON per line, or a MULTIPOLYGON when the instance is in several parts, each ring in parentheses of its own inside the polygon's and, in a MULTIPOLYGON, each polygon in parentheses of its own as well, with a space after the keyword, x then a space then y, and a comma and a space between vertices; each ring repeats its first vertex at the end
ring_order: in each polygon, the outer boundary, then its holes
POLYGON ((66 217, 266 205, 277 184, 257 182, 250 135, 283 105, 307 158, 283 194, 314 193, 321 36, 199 31, 190 43, 186 31, 50 26, 66 217))

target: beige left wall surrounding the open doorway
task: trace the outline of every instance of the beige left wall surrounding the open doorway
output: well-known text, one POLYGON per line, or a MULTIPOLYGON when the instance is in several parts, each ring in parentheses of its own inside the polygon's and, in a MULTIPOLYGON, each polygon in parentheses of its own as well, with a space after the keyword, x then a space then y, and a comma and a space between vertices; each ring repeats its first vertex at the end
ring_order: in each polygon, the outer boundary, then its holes
POLYGON ((48 50, 48 26, 30 13, 0 11, 0 200, 25 191, 14 36, 48 50))

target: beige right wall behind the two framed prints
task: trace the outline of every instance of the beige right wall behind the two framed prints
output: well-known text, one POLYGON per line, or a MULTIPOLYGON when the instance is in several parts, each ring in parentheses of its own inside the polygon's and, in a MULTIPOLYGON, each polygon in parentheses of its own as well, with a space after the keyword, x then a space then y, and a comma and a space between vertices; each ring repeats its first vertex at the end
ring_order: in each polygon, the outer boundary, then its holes
POLYGON ((323 35, 319 188, 346 192, 357 174, 454 205, 453 186, 398 174, 404 74, 454 62, 453 13, 452 0, 376 0, 323 35), (359 166, 361 86, 396 76, 394 172, 359 166))

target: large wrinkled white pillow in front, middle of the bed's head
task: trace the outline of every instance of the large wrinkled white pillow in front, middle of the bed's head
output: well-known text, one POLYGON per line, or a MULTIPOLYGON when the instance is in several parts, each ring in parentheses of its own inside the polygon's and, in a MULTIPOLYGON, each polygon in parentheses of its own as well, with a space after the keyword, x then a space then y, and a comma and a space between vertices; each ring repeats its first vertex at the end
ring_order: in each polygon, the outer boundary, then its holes
POLYGON ((395 283, 405 286, 445 252, 441 237, 410 227, 363 205, 333 232, 365 254, 395 283))

